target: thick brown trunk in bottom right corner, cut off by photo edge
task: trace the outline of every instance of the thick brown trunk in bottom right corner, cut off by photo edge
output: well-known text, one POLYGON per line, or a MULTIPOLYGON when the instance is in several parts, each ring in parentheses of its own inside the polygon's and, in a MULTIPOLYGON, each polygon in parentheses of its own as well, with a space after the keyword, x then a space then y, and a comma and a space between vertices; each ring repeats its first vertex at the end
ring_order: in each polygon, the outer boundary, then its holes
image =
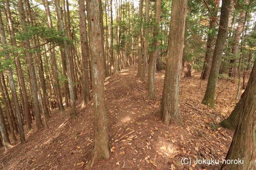
POLYGON ((238 125, 226 160, 243 159, 243 164, 222 164, 222 170, 253 170, 256 167, 256 61, 238 111, 238 125))

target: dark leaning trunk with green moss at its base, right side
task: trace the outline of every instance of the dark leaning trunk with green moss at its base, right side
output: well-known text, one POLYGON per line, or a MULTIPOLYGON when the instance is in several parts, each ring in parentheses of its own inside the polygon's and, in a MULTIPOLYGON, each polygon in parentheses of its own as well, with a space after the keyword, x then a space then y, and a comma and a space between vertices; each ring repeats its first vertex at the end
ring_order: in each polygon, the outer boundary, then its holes
POLYGON ((209 107, 214 107, 214 96, 216 90, 216 84, 218 80, 218 73, 220 70, 222 52, 224 44, 226 42, 227 28, 228 28, 228 14, 230 9, 231 0, 223 0, 220 12, 220 23, 219 30, 216 39, 216 45, 214 48, 212 67, 210 70, 210 75, 208 78, 207 88, 204 95, 202 104, 205 104, 209 107))

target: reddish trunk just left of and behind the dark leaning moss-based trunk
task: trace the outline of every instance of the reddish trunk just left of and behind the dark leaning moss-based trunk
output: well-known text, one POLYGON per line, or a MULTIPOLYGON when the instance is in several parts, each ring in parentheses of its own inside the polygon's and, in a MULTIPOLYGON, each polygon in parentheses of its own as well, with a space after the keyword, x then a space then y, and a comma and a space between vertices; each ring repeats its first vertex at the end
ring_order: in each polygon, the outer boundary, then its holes
POLYGON ((212 55, 213 55, 213 47, 214 47, 214 42, 215 42, 215 26, 216 22, 214 20, 217 19, 217 14, 218 14, 218 6, 219 6, 220 1, 214 0, 212 2, 212 14, 213 16, 210 17, 210 26, 208 30, 208 36, 207 36, 207 44, 206 44, 206 53, 205 53, 205 59, 204 59, 204 66, 203 66, 203 71, 201 78, 202 80, 205 80, 209 77, 210 70, 211 70, 211 65, 212 65, 212 55), (214 18, 213 18, 214 17, 214 18))

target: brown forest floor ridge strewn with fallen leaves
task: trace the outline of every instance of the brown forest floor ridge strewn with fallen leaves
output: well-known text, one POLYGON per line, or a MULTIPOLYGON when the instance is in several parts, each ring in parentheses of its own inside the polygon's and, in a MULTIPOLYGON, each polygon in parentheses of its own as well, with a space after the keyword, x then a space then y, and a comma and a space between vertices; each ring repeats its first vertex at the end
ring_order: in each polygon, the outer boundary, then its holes
MULTIPOLYGON (((136 77, 137 66, 130 66, 105 80, 105 96, 111 158, 99 160, 93 169, 172 169, 216 170, 218 165, 182 165, 182 158, 222 160, 228 152, 233 132, 218 123, 228 117, 236 104, 237 83, 219 79, 216 108, 201 101, 207 80, 200 74, 181 78, 180 110, 184 127, 166 126, 154 115, 160 104, 164 71, 156 72, 156 101, 148 100, 147 84, 136 77), (128 134, 128 135, 127 135, 128 134)), ((0 150, 0 169, 84 169, 93 149, 93 102, 82 107, 76 101, 78 117, 69 119, 68 109, 52 110, 44 128, 26 134, 27 143, 0 150)), ((24 126, 24 129, 26 127, 24 126)), ((18 138, 18 136, 17 136, 18 138)))

